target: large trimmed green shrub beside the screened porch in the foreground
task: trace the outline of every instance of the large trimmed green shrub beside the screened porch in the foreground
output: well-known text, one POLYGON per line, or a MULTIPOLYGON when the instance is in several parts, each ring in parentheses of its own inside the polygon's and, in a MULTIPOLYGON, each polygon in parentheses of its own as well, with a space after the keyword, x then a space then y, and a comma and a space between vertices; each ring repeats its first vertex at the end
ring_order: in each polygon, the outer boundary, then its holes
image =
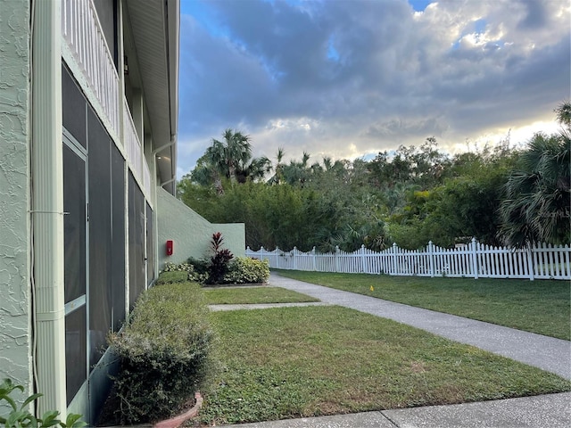
POLYGON ((218 366, 215 335, 198 284, 158 285, 143 293, 110 345, 120 358, 114 390, 120 424, 177 414, 208 389, 218 366))

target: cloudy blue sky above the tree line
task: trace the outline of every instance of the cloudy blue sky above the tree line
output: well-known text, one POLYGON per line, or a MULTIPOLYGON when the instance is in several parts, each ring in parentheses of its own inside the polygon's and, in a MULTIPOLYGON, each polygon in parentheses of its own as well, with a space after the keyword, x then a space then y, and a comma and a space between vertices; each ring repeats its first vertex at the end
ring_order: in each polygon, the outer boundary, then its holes
POLYGON ((276 161, 554 133, 568 0, 181 0, 178 177, 226 128, 276 161))

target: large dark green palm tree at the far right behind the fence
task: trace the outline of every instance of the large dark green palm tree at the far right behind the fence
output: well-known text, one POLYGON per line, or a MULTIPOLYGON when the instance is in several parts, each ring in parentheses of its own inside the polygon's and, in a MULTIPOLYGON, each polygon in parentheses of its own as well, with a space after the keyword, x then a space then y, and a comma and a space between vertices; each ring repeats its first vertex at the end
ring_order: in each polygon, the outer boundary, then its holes
POLYGON ((520 158, 501 202, 501 237, 515 247, 530 243, 570 243, 571 104, 556 110, 559 134, 536 134, 520 158))

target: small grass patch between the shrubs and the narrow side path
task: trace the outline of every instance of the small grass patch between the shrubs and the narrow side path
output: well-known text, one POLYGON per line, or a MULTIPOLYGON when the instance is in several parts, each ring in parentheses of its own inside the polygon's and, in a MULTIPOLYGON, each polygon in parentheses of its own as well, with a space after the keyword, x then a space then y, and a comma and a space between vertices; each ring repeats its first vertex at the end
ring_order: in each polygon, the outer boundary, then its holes
POLYGON ((220 287, 203 289, 204 297, 209 305, 241 305, 246 303, 301 303, 319 301, 300 292, 292 292, 285 288, 255 287, 220 287))

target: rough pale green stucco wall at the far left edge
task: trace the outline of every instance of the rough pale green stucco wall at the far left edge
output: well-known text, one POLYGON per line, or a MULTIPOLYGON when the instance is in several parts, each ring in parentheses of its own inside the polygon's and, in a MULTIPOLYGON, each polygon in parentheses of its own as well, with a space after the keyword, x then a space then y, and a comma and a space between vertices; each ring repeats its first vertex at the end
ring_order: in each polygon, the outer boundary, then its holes
POLYGON ((0 0, 0 380, 31 386, 29 2, 0 0))

